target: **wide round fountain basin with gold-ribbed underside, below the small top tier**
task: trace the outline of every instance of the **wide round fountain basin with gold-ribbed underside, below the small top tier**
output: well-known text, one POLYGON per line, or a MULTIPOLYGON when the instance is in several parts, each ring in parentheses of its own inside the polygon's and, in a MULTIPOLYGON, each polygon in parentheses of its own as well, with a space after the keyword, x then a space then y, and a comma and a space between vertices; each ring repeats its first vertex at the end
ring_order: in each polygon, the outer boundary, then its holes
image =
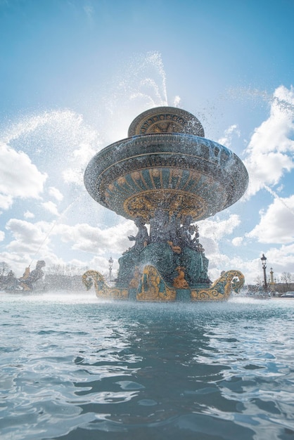
POLYGON ((233 205, 248 172, 231 150, 193 134, 143 134, 97 153, 84 173, 96 202, 127 219, 149 222, 156 207, 203 220, 233 205))

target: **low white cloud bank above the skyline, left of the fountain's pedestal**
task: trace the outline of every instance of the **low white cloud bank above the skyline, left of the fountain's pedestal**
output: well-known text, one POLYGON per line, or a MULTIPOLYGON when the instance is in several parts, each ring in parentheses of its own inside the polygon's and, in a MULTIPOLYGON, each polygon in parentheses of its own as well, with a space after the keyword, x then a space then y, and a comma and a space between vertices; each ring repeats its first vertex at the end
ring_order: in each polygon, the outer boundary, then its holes
MULTIPOLYGON (((25 267, 37 259, 44 259, 46 266, 52 264, 75 264, 80 267, 88 266, 102 273, 108 273, 108 259, 113 256, 113 274, 118 269, 117 257, 120 257, 127 247, 134 245, 127 238, 136 234, 133 221, 124 221, 114 227, 101 229, 93 228, 88 224, 68 226, 66 224, 47 223, 39 221, 35 224, 29 221, 11 219, 6 224, 6 229, 13 235, 13 240, 6 245, 4 252, 0 252, 0 260, 11 265, 18 276, 23 274, 25 267), (72 259, 64 261, 53 253, 53 238, 71 246, 72 259), (87 262, 75 259, 73 251, 83 251, 87 262), (88 254, 88 255, 87 255, 88 254), (93 255, 89 259, 89 254, 93 255)), ((1 234, 0 234, 1 236, 1 234)), ((70 247, 68 247, 70 249, 70 247)))

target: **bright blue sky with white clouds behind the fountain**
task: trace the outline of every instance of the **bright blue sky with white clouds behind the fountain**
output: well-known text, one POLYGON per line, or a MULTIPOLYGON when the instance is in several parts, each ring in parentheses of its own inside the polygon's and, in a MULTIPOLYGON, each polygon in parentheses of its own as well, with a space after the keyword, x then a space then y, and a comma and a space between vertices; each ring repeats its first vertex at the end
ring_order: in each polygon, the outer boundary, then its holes
POLYGON ((199 221, 209 276, 294 277, 293 0, 0 0, 0 261, 108 273, 136 235, 84 169, 161 105, 198 117, 249 186, 199 221))

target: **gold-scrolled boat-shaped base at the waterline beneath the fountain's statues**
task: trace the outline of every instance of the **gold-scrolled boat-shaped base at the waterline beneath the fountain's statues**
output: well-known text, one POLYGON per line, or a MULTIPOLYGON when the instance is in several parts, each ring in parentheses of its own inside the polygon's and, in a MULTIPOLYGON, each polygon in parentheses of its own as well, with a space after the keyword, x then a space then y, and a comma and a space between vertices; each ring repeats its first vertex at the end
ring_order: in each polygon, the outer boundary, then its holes
POLYGON ((129 287, 110 287, 101 273, 87 271, 82 276, 89 290, 94 284, 96 297, 100 299, 136 300, 145 302, 173 301, 226 301, 231 292, 238 293, 244 285, 240 271, 226 271, 210 287, 176 288, 167 285, 154 266, 145 266, 140 277, 134 278, 129 287))

